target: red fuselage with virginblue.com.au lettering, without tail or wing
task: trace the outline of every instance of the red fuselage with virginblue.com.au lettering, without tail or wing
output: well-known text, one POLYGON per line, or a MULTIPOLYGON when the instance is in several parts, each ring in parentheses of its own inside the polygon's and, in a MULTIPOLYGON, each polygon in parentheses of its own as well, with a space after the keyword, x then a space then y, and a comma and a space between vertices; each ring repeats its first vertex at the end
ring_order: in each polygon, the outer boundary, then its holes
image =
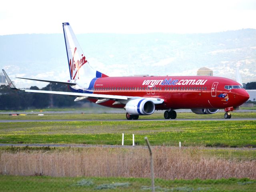
MULTIPOLYGON (((156 110, 238 107, 249 98, 238 82, 212 76, 143 76, 98 78, 90 88, 94 94, 108 94, 164 99, 156 110), (225 88, 226 86, 226 88, 225 88), (227 86, 236 88, 227 89, 227 86)), ((97 99, 90 99, 96 102, 97 99)), ((102 106, 124 108, 124 104, 112 105, 115 101, 101 103, 102 106)))

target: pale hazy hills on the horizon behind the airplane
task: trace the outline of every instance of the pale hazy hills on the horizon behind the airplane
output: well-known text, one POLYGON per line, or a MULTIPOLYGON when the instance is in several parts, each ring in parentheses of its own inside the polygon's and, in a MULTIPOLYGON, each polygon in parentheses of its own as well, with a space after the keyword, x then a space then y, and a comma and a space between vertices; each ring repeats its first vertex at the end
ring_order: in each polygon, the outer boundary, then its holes
MULTIPOLYGON (((235 78, 239 68, 244 83, 256 81, 256 30, 210 34, 78 34, 90 65, 108 76, 196 75, 198 68, 214 76, 235 78)), ((63 34, 0 36, 0 67, 16 86, 47 83, 14 77, 69 79, 63 34)))

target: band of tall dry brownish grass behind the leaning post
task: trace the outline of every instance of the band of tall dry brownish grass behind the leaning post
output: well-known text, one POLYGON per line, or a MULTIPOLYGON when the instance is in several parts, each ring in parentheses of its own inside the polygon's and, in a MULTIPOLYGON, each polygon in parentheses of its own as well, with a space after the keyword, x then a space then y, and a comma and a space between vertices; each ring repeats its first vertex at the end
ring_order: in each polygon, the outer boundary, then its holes
MULTIPOLYGON (((154 148, 156 178, 256 179, 255 160, 226 160, 188 149, 154 148)), ((0 174, 31 176, 150 177, 147 149, 86 148, 2 152, 0 174)))

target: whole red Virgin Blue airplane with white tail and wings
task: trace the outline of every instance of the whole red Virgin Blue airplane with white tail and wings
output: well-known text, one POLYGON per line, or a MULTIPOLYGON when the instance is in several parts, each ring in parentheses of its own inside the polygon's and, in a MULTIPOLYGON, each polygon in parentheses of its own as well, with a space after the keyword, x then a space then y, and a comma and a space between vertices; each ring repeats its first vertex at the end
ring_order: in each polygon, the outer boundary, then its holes
MULTIPOLYGON (((195 114, 215 114, 224 109, 224 118, 249 99, 241 79, 215 76, 132 76, 109 77, 90 66, 69 23, 62 23, 70 79, 67 82, 20 78, 69 86, 72 92, 16 88, 3 70, 10 88, 25 92, 76 96, 74 101, 89 100, 102 106, 124 108, 128 120, 165 110, 165 119, 175 119, 177 109, 195 114), (240 83, 239 83, 240 82, 240 83)), ((240 77, 240 75, 239 75, 240 77)))

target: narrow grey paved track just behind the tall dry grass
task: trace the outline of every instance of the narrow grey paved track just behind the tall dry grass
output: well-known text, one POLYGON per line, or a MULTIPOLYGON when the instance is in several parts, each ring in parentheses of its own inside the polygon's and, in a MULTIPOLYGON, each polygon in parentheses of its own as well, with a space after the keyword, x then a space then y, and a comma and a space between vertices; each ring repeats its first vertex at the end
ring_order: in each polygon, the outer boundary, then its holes
MULTIPOLYGON (((1 146, 14 146, 14 147, 75 147, 75 148, 95 148, 95 147, 103 147, 103 148, 148 148, 147 146, 131 146, 131 145, 90 145, 90 144, 2 144, 1 146)), ((158 148, 159 146, 151 146, 152 148, 158 148)), ((175 146, 165 146, 167 148, 178 149, 179 147, 175 146)), ((196 149, 224 149, 224 150, 256 150, 256 148, 225 148, 225 147, 181 147, 181 149, 189 149, 189 148, 196 148, 196 149)))

